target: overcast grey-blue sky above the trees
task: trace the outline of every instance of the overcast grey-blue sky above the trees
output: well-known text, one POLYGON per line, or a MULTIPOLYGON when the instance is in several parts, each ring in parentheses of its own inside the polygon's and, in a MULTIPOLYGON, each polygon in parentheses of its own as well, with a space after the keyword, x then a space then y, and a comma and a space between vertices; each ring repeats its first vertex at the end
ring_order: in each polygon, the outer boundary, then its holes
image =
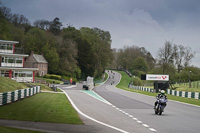
POLYGON ((190 46, 200 67, 200 0, 2 0, 32 23, 55 17, 65 27, 109 31, 112 48, 145 47, 156 58, 165 41, 190 46))

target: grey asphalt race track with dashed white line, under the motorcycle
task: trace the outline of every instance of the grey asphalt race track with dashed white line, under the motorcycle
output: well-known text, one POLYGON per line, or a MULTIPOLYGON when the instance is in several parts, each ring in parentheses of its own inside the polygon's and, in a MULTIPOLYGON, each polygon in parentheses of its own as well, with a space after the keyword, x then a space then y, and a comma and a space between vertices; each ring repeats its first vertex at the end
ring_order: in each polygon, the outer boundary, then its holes
POLYGON ((122 131, 93 122, 83 116, 85 125, 93 127, 91 132, 99 133, 199 133, 200 107, 168 101, 164 113, 155 115, 153 105, 155 98, 118 89, 120 74, 109 71, 110 78, 94 91, 107 100, 108 105, 97 100, 76 87, 65 89, 77 108, 84 114, 122 131), (115 73, 115 74, 113 74, 115 73), (111 83, 113 83, 111 85, 111 83))

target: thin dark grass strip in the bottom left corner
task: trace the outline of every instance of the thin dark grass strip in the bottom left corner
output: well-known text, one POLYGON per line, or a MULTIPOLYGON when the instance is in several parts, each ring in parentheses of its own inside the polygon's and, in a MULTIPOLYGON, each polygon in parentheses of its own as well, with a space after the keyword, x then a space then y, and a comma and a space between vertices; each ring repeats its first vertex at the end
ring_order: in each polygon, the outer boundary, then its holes
POLYGON ((39 131, 32 131, 32 130, 24 130, 12 127, 0 127, 1 133, 42 133, 39 131))

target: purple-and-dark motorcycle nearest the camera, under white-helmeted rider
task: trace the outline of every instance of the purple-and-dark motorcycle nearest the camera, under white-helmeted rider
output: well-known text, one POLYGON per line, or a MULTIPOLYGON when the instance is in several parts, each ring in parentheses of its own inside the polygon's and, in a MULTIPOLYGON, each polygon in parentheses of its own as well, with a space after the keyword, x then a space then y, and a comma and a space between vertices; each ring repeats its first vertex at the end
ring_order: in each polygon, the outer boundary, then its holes
POLYGON ((162 115, 162 112, 164 112, 164 108, 166 106, 166 102, 167 101, 168 100, 163 98, 163 97, 158 99, 157 107, 154 109, 155 110, 155 114, 162 115))

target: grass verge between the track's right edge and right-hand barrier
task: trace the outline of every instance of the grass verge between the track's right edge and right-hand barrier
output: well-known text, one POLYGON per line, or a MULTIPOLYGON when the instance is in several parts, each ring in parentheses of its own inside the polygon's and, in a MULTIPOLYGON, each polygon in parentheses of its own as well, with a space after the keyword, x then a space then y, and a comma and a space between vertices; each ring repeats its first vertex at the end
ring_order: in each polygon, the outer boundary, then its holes
MULTIPOLYGON (((157 95, 157 93, 151 93, 151 92, 140 91, 140 90, 128 88, 128 84, 132 80, 132 77, 129 77, 124 71, 117 71, 117 72, 122 75, 120 83, 116 86, 117 88, 124 89, 124 90, 131 91, 131 92, 141 93, 144 95, 154 96, 154 97, 157 95)), ((173 96, 173 95, 168 95, 168 94, 167 94, 167 97, 170 100, 175 100, 175 101, 180 101, 180 102, 200 106, 200 99, 178 97, 178 96, 173 96)))

